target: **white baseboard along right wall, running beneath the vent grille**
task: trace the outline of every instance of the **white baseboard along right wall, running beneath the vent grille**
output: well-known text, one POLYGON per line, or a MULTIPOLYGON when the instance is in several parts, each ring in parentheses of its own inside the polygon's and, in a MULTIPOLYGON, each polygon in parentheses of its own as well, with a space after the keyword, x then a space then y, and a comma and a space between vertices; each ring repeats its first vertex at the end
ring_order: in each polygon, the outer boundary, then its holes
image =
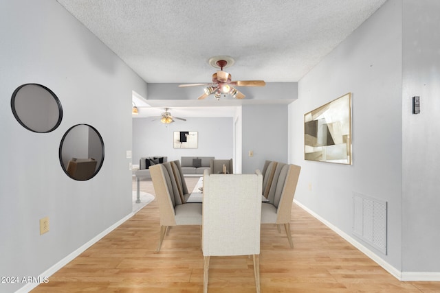
POLYGON ((320 215, 314 213, 314 211, 311 211, 309 208, 305 207, 303 204, 301 204, 297 200, 294 200, 294 202, 296 204, 298 204, 298 206, 301 207, 301 209, 304 209, 305 211, 307 211, 307 213, 309 213, 314 218, 316 218, 317 220, 322 222, 322 224, 325 224, 327 227, 331 228, 331 230, 335 231, 338 235, 340 235, 340 237, 342 237, 345 240, 347 240, 348 242, 350 242, 351 245, 355 246, 355 248, 358 248, 358 250, 360 250, 362 253, 364 253, 364 255, 366 255, 367 257, 371 258, 379 266, 384 268, 384 270, 386 270, 387 272, 392 274, 396 279, 401 281, 402 272, 400 270, 397 270, 397 268, 391 266, 391 264, 389 264, 386 261, 384 261, 384 259, 381 259, 380 257, 378 257, 375 253, 373 253, 371 250, 369 250, 369 248, 366 248, 365 246, 360 244, 360 242, 358 242, 356 239, 354 239, 353 237, 351 237, 350 235, 348 235, 344 231, 340 230, 340 228, 338 228, 338 227, 334 226, 333 224, 327 222, 327 220, 325 220, 324 218, 320 217, 320 215))

